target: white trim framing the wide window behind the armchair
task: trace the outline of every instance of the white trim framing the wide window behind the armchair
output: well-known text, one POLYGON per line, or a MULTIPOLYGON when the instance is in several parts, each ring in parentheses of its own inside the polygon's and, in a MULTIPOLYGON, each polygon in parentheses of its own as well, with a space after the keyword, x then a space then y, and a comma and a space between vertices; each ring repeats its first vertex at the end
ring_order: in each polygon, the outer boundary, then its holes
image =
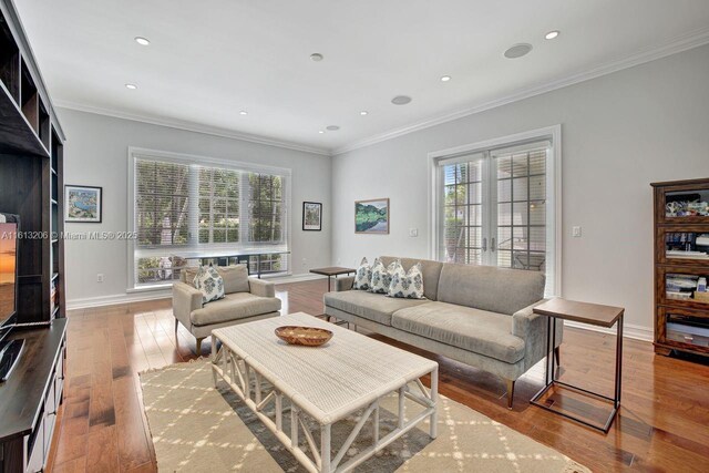
MULTIPOLYGON (((198 164, 198 165, 213 165, 217 167, 233 168, 238 171, 249 171, 254 173, 269 173, 273 175, 284 176, 287 178, 287 185, 285 188, 285 197, 288 205, 292 207, 291 197, 291 187, 292 179, 291 174, 292 171, 287 167, 276 167, 268 166, 261 164, 254 163, 245 163, 240 161, 233 160, 224 160, 217 157, 209 156, 201 156, 195 154, 185 154, 185 153, 174 153, 169 151, 160 151, 160 150, 150 150, 144 147, 135 147, 129 146, 127 153, 127 165, 129 165, 129 178, 127 178, 127 222, 126 228, 129 233, 135 232, 135 158, 136 157, 147 157, 147 158, 160 158, 166 162, 173 162, 178 164, 198 164)), ((284 228, 286 228, 288 235, 288 241, 291 238, 290 232, 290 219, 291 219, 291 210, 292 208, 286 209, 286 220, 284 222, 284 228)), ((280 245, 282 246, 282 245, 280 245)), ((290 244, 288 243, 288 246, 290 244)), ((164 285, 152 285, 152 286, 136 286, 135 284, 135 240, 127 240, 127 280, 126 280, 126 292, 143 292, 151 290, 164 290, 171 286, 169 282, 164 285)), ((290 255, 287 255, 287 258, 290 259, 290 255)), ((290 260, 288 261, 288 275, 291 274, 291 265, 290 260)))

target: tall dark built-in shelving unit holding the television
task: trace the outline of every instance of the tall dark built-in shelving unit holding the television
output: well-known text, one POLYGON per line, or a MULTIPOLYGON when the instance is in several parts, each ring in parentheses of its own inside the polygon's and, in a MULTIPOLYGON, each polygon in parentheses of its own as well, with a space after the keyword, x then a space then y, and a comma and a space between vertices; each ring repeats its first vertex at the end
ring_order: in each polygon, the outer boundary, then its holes
POLYGON ((20 216, 17 320, 24 350, 0 383, 0 472, 43 471, 65 353, 63 142, 12 0, 0 0, 0 212, 20 216))

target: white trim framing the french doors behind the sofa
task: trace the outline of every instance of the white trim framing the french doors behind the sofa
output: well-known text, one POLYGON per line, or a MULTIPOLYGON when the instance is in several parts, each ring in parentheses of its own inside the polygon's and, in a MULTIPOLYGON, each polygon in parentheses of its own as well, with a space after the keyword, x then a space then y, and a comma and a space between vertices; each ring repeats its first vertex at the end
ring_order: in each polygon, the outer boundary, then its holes
MULTIPOLYGON (((438 259, 439 247, 439 225, 441 213, 439 209, 440 194, 442 192, 440 179, 438 178, 436 162, 453 157, 459 154, 473 154, 490 150, 492 147, 505 146, 518 142, 552 138, 552 152, 549 153, 549 166, 547 168, 547 189, 553 186, 552 198, 547 198, 548 208, 554 212, 554 287, 549 288, 551 296, 562 296, 562 246, 563 246, 563 222, 562 222, 562 125, 546 126, 528 132, 516 133, 507 136, 500 136, 477 143, 455 146, 448 150, 430 152, 428 154, 429 166, 429 251, 431 259, 438 259)), ((547 193, 547 195, 551 195, 547 193)))

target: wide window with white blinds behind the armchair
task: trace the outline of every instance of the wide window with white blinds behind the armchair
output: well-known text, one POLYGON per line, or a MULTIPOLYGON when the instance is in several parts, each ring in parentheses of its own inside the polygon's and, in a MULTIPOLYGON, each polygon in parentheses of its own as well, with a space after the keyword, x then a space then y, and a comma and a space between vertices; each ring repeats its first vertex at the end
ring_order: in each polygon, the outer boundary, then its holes
MULTIPOLYGON (((286 273, 289 173, 135 155, 133 286, 169 284, 171 256, 218 248, 249 253, 263 273, 286 273)), ((230 164, 230 163, 229 163, 230 164)))

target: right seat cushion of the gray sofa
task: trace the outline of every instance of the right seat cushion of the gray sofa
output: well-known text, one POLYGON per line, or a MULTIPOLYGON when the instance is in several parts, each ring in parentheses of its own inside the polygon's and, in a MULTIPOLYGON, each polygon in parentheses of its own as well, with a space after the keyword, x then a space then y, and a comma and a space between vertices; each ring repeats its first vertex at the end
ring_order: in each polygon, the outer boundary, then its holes
POLYGON ((391 326, 506 363, 524 358, 524 340, 512 335, 512 317, 445 302, 401 309, 391 326))

